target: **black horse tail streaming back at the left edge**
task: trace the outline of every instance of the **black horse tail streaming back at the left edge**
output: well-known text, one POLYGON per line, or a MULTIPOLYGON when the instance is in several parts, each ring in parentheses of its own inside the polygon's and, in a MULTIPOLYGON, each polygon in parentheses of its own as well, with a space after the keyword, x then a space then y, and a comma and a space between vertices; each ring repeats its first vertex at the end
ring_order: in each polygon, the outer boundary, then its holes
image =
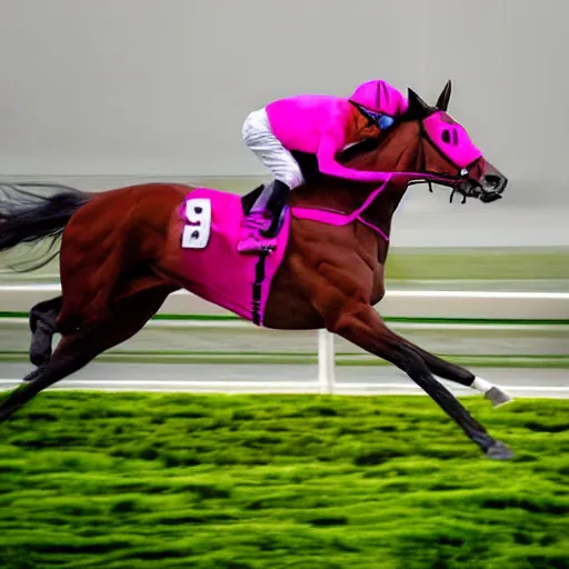
POLYGON ((57 183, 0 183, 0 251, 20 243, 50 240, 40 259, 10 268, 29 272, 44 267, 59 254, 56 242, 71 216, 92 196, 57 183), (39 190, 37 193, 33 190, 39 190))

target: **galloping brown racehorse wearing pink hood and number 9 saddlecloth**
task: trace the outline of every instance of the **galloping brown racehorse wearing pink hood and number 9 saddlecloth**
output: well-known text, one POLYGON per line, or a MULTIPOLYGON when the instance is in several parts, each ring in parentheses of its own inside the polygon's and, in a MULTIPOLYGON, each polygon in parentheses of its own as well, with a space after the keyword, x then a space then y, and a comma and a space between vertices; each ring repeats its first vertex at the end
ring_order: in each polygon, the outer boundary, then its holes
POLYGON ((239 199, 174 183, 96 194, 60 186, 51 196, 11 187, 11 201, 0 202, 0 250, 62 233, 62 296, 32 308, 30 360, 37 369, 3 399, 0 420, 131 338, 171 292, 183 288, 267 328, 326 328, 346 338, 407 372, 488 457, 510 458, 510 449, 433 375, 478 389, 493 405, 508 396, 396 335, 373 308, 385 295, 391 217, 410 183, 435 181, 465 200, 482 201, 498 199, 506 187, 506 178, 482 157, 467 166, 449 158, 456 154, 446 144, 461 143, 457 129, 462 129, 446 112, 449 98, 450 82, 435 107, 409 90, 409 109, 390 130, 339 157, 351 168, 393 172, 380 189, 378 182, 322 176, 313 157, 297 156, 306 184, 284 209, 280 233, 287 241, 258 258, 236 253, 227 236, 260 189, 239 199), (433 116, 446 124, 440 134, 427 128, 433 116), (226 218, 216 220, 223 208, 226 218), (238 219, 231 221, 230 213, 238 219), (236 300, 240 295, 250 295, 250 307, 236 300), (61 340, 51 353, 56 332, 61 340))

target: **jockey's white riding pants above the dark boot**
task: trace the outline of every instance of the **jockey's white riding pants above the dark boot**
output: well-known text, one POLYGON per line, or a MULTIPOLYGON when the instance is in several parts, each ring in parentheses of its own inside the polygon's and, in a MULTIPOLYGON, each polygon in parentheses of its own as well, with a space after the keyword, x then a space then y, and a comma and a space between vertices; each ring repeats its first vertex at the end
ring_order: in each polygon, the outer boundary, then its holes
POLYGON ((257 154, 277 180, 284 182, 291 190, 305 183, 297 161, 272 133, 264 107, 248 114, 241 136, 246 146, 257 154))

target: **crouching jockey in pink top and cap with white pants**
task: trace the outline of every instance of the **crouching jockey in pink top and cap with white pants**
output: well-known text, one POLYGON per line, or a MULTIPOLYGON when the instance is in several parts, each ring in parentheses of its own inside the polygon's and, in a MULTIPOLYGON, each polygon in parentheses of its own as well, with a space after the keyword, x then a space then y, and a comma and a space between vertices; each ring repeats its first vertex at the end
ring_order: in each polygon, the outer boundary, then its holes
POLYGON ((348 144, 377 137, 407 110, 407 99, 386 81, 368 81, 346 98, 300 94, 270 102, 244 120, 242 138, 274 180, 263 188, 247 216, 238 251, 270 251, 277 243, 269 236, 290 190, 305 180, 290 151, 316 154, 320 172, 348 180, 370 182, 378 172, 352 170, 336 161, 348 144))

